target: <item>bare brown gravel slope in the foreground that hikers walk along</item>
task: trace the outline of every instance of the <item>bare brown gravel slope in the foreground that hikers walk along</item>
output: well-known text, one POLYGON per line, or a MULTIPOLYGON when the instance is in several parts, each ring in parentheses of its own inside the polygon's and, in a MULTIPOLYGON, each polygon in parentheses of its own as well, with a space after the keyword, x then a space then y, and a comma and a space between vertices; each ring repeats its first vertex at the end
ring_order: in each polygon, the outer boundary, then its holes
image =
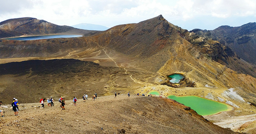
MULTIPOLYGON (((55 98, 54 98, 55 99, 55 98)), ((56 98, 57 99, 57 98, 56 98)), ((55 100, 56 100, 55 99, 55 100)), ((10 108, 0 118, 3 133, 166 133, 166 134, 235 134, 205 120, 194 110, 171 99, 124 95, 98 97, 77 106, 66 101, 39 108, 39 103, 20 104, 19 116, 10 108)))

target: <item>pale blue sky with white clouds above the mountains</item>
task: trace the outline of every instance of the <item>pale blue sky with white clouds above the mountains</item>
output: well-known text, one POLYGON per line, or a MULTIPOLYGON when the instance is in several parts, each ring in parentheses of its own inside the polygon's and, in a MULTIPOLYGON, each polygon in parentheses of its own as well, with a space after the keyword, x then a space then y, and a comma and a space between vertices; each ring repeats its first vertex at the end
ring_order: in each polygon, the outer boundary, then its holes
POLYGON ((183 29, 213 30, 256 21, 256 0, 3 0, 0 22, 33 17, 57 25, 91 23, 111 28, 162 14, 183 29))

